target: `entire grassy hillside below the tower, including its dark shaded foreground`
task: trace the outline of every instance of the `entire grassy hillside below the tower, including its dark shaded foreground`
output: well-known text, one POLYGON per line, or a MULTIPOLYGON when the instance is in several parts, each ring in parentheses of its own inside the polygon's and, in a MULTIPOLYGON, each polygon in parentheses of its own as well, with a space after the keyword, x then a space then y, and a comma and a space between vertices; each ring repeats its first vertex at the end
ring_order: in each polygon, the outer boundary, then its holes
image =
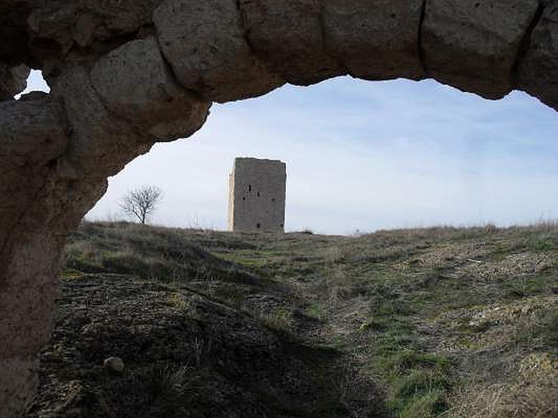
POLYGON ((84 223, 27 417, 558 417, 557 261, 555 224, 84 223))

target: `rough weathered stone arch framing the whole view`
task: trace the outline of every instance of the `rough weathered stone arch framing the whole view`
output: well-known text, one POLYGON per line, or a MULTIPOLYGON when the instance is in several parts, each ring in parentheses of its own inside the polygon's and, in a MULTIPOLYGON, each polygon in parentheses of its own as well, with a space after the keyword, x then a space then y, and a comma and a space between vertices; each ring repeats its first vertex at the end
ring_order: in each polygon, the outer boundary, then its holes
POLYGON ((2 417, 33 396, 66 235, 107 176, 211 102, 352 75, 558 110, 558 0, 7 0, 0 40, 2 417), (26 66, 52 91, 11 100, 26 66))

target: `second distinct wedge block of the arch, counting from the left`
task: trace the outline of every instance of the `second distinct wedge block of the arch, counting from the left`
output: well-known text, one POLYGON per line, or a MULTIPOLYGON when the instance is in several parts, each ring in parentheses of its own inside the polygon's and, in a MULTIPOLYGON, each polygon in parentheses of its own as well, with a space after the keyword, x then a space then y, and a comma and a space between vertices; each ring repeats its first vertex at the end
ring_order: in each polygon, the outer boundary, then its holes
POLYGON ((176 77, 206 99, 254 97, 285 83, 250 51, 236 0, 166 0, 154 20, 176 77))

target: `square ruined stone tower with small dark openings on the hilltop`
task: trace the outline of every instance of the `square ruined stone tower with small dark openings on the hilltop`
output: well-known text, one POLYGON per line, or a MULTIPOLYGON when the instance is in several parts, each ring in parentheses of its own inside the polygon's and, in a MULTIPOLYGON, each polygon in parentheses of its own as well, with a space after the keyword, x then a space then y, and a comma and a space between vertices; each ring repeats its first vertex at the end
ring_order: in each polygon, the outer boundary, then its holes
POLYGON ((229 231, 284 232, 286 180, 284 162, 236 158, 229 176, 229 231))

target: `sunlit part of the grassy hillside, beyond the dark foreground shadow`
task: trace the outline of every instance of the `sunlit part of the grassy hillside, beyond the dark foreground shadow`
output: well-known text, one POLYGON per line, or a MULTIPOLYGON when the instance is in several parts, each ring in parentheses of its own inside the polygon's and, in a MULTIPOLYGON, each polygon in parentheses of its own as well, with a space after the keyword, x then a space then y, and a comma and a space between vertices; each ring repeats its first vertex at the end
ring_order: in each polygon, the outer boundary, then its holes
POLYGON ((398 417, 558 414, 555 225, 335 237, 84 224, 66 252, 66 279, 186 282, 287 336, 343 350, 398 417))

